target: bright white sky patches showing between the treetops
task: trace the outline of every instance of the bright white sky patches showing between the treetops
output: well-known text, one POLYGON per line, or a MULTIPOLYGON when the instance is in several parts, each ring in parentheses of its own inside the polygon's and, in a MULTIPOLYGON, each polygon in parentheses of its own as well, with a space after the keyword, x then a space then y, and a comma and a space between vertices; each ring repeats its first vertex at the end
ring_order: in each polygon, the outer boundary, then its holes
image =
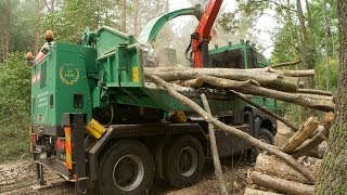
MULTIPOLYGON (((170 11, 192 6, 192 4, 190 3, 191 1, 188 1, 188 0, 179 0, 179 1, 170 0, 169 2, 170 2, 170 11)), ((195 0, 195 2, 198 2, 198 1, 195 0)), ((236 1, 235 0, 224 0, 223 1, 222 11, 224 11, 224 12, 234 11, 235 9, 236 9, 236 1)), ((256 25, 256 29, 260 30, 260 32, 257 36, 260 44, 262 46, 262 48, 268 48, 264 52, 265 56, 267 56, 267 57, 270 57, 271 52, 273 51, 273 47, 270 47, 273 44, 273 41, 271 40, 271 36, 270 36, 269 31, 274 29, 275 22, 271 17, 271 14, 273 14, 273 13, 269 12, 268 14, 259 17, 257 25, 256 25)))

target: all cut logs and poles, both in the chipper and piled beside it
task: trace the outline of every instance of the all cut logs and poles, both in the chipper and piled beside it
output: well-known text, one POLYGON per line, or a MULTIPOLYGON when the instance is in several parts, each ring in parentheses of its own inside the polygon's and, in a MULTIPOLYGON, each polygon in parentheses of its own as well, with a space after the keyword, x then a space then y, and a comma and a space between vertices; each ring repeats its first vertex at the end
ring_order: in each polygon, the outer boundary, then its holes
MULTIPOLYGON (((252 182, 261 187, 274 190, 285 194, 312 194, 314 192, 314 172, 304 166, 297 159, 311 154, 311 150, 322 141, 327 140, 329 129, 334 118, 333 113, 325 115, 319 122, 317 117, 309 118, 297 128, 292 122, 271 113, 248 99, 248 95, 268 96, 284 102, 310 107, 322 112, 333 112, 333 94, 327 91, 314 89, 299 89, 300 77, 313 77, 314 70, 283 70, 275 69, 284 65, 274 65, 256 69, 232 68, 183 68, 183 67, 145 67, 145 79, 155 82, 168 91, 168 93, 182 104, 190 106, 196 114, 210 123, 209 131, 217 127, 227 133, 242 138, 250 145, 258 147, 267 154, 260 154, 257 158, 255 171, 252 172, 252 182), (170 83, 171 82, 171 83, 170 83), (248 104, 281 120, 296 133, 281 148, 264 143, 252 135, 228 126, 214 118, 204 104, 204 108, 179 92, 180 86, 191 88, 214 88, 230 91, 248 104), (211 127, 211 128, 210 128, 211 127)), ((203 99, 204 95, 202 95, 203 99)), ((204 99, 203 99, 204 101, 204 99)), ((216 142, 210 139, 211 144, 216 142)), ((211 148, 213 152, 217 151, 211 148)), ((218 154, 213 153, 216 174, 219 180, 221 194, 228 194, 221 171, 217 171, 219 164, 218 154)), ((261 191, 247 188, 245 194, 261 194, 261 191)), ((269 192, 266 192, 269 194, 269 192)))

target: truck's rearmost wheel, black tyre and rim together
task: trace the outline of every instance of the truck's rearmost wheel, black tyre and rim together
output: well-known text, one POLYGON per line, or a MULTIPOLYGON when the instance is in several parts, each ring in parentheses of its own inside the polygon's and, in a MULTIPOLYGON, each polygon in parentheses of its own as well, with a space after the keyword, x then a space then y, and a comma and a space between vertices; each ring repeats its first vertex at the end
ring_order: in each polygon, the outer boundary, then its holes
POLYGON ((100 194, 146 194, 153 183, 154 162, 150 151, 139 141, 119 141, 101 160, 100 194))

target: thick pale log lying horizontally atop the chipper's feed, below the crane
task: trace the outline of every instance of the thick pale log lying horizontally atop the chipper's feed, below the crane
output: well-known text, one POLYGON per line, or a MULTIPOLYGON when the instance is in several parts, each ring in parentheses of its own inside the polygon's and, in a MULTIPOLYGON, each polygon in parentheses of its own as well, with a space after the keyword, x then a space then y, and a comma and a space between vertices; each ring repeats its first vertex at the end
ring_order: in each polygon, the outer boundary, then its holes
POLYGON ((158 76, 166 81, 213 76, 237 81, 256 80, 265 88, 287 92, 296 92, 298 89, 297 78, 281 76, 266 70, 261 72, 259 69, 145 67, 144 74, 158 76))

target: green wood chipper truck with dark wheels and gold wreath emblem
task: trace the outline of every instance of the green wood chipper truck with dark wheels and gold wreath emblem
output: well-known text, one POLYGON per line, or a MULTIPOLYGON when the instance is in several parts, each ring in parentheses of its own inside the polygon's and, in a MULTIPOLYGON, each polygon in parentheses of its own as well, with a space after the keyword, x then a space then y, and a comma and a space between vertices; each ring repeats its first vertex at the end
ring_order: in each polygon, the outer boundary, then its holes
MULTIPOLYGON (((200 179, 210 158, 207 122, 143 75, 156 57, 143 37, 149 41, 170 18, 196 12, 184 9, 155 18, 141 32, 142 41, 110 27, 86 30, 78 44, 54 42, 48 34, 31 62, 30 143, 40 184, 43 167, 75 182, 79 194, 93 188, 100 194, 145 194, 155 179, 178 187, 200 179)), ((209 53, 216 66, 236 54, 244 65, 239 68, 250 67, 247 57, 252 67, 258 64, 247 42, 209 53)), ((200 105, 205 93, 219 120, 273 142, 277 121, 231 93, 187 87, 179 92, 200 105)), ((274 106, 273 101, 259 101, 274 106)), ((245 141, 221 131, 216 138, 220 157, 252 156, 245 141)))

